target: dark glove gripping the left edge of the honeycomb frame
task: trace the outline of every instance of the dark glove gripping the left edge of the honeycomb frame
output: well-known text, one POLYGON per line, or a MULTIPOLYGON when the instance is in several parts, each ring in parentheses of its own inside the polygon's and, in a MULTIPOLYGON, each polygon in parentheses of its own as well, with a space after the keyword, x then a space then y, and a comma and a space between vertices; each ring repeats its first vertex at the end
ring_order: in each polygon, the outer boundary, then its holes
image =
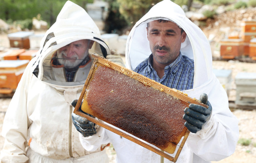
MULTIPOLYGON (((73 107, 76 107, 76 103, 78 100, 73 100, 71 102, 71 105, 73 107)), ((83 102, 82 102, 83 103, 83 102)), ((82 105, 81 103, 81 105, 82 105)), ((83 110, 81 110, 81 105, 79 107, 79 111, 83 112, 83 110)), ((85 112, 83 112, 85 113, 85 112)), ((89 115, 90 117, 93 117, 92 115, 85 113, 87 115, 89 115)), ((95 128, 95 123, 92 123, 91 121, 88 121, 87 118, 81 117, 80 115, 76 115, 75 113, 71 114, 72 116, 72 121, 73 124, 75 125, 75 128, 77 129, 77 131, 79 131, 84 137, 87 136, 92 136, 94 134, 96 134, 96 128, 95 128)), ((93 117, 94 118, 94 117, 93 117)))

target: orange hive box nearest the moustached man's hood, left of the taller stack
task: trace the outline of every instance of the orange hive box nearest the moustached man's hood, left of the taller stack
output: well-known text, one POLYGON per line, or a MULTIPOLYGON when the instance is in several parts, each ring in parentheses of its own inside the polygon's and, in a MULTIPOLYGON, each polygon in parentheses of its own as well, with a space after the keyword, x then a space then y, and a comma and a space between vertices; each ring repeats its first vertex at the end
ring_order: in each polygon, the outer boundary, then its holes
POLYGON ((243 55, 242 39, 223 39, 220 41, 220 56, 223 59, 234 59, 243 55))

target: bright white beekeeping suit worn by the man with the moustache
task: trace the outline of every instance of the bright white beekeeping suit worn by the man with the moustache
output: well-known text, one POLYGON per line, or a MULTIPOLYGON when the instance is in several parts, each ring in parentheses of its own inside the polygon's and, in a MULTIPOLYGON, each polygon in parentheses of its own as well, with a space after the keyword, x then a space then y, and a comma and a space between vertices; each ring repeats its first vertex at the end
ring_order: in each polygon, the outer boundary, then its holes
MULTIPOLYGON (((212 55, 207 38, 198 26, 186 18, 180 6, 164 0, 153 6, 135 24, 126 43, 126 67, 134 70, 152 53, 147 40, 146 24, 156 19, 173 21, 186 32, 186 40, 181 43, 180 51, 194 60, 194 84, 193 89, 183 92, 196 99, 206 93, 212 105, 210 120, 196 134, 190 133, 177 163, 209 163, 232 155, 238 140, 238 120, 228 108, 227 94, 212 72, 212 55)), ((118 163, 160 162, 160 155, 107 129, 102 131, 101 136, 111 140, 118 163)), ((94 150, 100 145, 93 136, 80 138, 85 149, 94 150)), ((164 162, 171 161, 165 159, 164 162)))

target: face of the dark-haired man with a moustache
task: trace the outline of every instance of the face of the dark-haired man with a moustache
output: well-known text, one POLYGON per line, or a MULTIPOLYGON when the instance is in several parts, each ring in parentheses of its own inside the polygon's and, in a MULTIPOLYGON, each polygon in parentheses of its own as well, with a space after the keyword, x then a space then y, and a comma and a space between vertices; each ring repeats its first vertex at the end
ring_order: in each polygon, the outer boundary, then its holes
POLYGON ((186 39, 186 33, 172 21, 149 22, 147 39, 153 54, 153 65, 167 66, 180 54, 180 46, 186 39))

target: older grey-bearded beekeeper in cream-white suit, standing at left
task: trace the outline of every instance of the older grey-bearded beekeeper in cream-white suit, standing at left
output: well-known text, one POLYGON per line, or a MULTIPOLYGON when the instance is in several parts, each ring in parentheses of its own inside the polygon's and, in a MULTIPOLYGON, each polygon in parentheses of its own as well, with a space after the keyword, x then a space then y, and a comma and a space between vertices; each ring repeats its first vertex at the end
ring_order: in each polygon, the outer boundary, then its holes
POLYGON ((2 163, 108 162, 103 150, 107 144, 94 152, 84 150, 71 120, 71 102, 79 98, 92 65, 92 44, 102 56, 110 54, 86 11, 67 1, 10 102, 3 122, 2 163))

